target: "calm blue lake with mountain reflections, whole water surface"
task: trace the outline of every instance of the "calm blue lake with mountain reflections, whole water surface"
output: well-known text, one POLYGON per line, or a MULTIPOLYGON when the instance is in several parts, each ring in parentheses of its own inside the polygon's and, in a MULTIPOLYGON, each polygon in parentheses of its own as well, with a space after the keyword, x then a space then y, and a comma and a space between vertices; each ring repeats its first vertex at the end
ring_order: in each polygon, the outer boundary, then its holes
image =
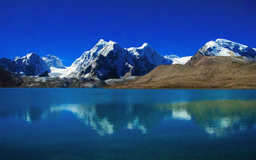
POLYGON ((0 89, 0 159, 255 159, 256 90, 0 89))

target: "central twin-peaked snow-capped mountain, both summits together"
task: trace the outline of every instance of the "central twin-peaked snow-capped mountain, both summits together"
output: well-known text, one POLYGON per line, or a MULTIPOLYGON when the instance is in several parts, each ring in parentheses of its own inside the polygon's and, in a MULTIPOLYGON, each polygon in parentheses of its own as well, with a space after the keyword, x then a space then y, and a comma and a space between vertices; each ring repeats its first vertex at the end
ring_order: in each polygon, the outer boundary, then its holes
POLYGON ((144 43, 138 48, 122 48, 114 41, 100 40, 90 51, 84 52, 70 68, 69 76, 106 80, 123 76, 145 75, 160 64, 172 64, 144 43))

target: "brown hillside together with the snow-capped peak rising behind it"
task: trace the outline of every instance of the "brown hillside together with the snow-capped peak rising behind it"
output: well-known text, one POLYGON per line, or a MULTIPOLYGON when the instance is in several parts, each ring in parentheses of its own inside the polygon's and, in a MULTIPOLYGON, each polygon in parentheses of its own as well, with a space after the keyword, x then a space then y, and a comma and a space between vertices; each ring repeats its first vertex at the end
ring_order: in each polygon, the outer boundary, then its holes
POLYGON ((184 65, 160 65, 120 89, 256 89, 255 48, 209 41, 184 65))

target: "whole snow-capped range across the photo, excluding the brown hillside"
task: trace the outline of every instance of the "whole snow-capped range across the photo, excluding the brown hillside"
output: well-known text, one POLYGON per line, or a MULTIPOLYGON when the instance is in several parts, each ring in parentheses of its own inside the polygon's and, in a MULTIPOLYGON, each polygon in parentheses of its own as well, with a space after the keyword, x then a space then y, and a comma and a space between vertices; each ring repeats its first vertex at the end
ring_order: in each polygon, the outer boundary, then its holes
MULTIPOLYGON (((32 79, 38 76, 49 76, 49 78, 59 78, 59 80, 86 78, 99 84, 105 80, 109 82, 109 80, 117 79, 118 81, 118 79, 126 80, 130 77, 147 75, 159 65, 188 66, 189 63, 198 61, 202 56, 235 57, 246 62, 255 62, 256 49, 233 41, 217 39, 205 43, 193 56, 179 57, 177 55, 163 56, 148 43, 143 43, 141 47, 122 48, 114 41, 99 40, 91 50, 84 52, 68 67, 65 67, 54 55, 41 58, 35 53, 15 57, 13 60, 3 57, 0 59, 0 67, 15 76, 31 76, 32 79)), ((88 80, 85 81, 88 82, 88 80)), ((101 86, 104 85, 101 84, 101 86)))

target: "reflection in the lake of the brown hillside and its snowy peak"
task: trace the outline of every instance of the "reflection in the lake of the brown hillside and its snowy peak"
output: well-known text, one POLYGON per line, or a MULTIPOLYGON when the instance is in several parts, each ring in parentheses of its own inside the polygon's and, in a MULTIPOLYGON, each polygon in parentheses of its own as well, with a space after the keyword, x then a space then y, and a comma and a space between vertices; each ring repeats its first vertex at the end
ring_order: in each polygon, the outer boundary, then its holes
POLYGON ((211 138, 253 129, 256 121, 256 101, 194 101, 161 104, 157 108, 172 110, 173 119, 191 120, 192 117, 211 138))

